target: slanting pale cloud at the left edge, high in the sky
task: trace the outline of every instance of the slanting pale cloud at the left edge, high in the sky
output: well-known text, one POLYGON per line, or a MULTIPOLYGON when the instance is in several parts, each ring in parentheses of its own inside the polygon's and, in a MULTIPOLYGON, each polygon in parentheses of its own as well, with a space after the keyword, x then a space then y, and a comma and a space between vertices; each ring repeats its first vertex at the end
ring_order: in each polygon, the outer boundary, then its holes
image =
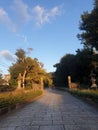
POLYGON ((15 25, 8 16, 8 13, 3 8, 0 8, 0 23, 7 25, 13 32, 16 30, 15 25))

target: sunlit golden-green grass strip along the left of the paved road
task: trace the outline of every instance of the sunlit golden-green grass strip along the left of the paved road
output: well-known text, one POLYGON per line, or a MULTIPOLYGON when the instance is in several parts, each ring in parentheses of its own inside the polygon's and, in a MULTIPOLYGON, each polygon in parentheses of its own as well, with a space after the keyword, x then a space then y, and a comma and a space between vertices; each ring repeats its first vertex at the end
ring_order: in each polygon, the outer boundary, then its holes
POLYGON ((36 97, 42 95, 42 91, 15 91, 0 94, 0 109, 10 107, 16 104, 24 104, 34 100, 36 97))

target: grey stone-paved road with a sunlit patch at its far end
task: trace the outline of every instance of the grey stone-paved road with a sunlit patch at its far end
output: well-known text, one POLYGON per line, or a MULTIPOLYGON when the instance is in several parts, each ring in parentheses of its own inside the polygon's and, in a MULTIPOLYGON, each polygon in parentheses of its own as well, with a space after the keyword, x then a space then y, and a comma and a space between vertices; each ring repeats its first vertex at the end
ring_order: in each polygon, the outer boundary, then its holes
POLYGON ((98 130, 98 111, 67 92, 48 89, 0 119, 0 130, 98 130))

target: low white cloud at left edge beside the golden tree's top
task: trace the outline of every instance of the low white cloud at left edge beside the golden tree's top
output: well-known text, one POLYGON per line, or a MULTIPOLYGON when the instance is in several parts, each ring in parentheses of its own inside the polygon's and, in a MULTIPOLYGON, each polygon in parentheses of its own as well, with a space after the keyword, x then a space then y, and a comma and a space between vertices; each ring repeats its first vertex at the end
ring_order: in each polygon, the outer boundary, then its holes
POLYGON ((13 62, 16 60, 16 56, 13 55, 11 52, 9 52, 8 50, 3 50, 0 52, 0 57, 3 57, 5 60, 13 62))

